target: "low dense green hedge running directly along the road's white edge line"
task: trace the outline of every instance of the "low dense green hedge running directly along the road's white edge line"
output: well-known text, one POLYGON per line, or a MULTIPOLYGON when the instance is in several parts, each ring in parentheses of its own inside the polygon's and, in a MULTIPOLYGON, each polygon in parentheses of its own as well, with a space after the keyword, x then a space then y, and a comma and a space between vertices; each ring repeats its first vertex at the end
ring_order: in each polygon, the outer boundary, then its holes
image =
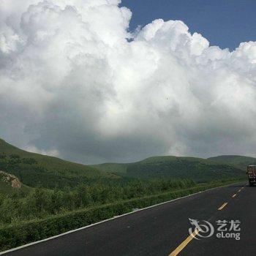
MULTIPOLYGON (((225 184, 230 183, 232 182, 225 182, 225 184)), ((133 208, 144 208, 177 197, 210 189, 212 187, 218 187, 219 185, 223 184, 205 184, 194 188, 176 190, 175 192, 165 192, 160 195, 149 195, 131 200, 122 200, 116 203, 108 203, 102 206, 71 211, 45 219, 20 222, 17 225, 1 227, 0 250, 10 249, 32 241, 56 236, 57 234, 64 233, 68 230, 90 225, 116 215, 125 214, 132 211, 133 208)))

